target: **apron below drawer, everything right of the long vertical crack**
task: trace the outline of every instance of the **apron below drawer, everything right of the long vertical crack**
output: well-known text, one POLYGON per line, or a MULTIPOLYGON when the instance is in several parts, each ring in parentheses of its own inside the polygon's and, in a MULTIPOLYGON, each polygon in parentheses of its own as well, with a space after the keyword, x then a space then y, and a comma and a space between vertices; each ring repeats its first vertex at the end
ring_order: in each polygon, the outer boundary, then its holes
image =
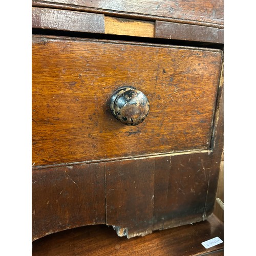
POLYGON ((211 165, 208 152, 106 163, 106 223, 132 238, 205 220, 219 174, 211 165))

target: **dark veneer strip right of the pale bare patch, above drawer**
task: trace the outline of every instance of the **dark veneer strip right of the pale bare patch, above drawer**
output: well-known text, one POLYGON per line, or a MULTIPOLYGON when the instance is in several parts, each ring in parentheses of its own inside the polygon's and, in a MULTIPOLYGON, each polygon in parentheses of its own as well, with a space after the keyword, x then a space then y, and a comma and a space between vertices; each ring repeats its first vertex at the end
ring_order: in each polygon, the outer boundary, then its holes
POLYGON ((223 44, 224 33, 223 29, 219 28, 156 20, 155 37, 223 44))

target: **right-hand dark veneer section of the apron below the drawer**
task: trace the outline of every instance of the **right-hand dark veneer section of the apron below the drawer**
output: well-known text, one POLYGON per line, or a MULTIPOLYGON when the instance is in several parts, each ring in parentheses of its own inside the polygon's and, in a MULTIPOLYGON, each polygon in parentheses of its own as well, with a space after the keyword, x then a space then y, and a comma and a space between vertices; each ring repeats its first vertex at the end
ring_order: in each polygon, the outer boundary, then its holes
POLYGON ((206 211, 209 215, 213 209, 205 205, 207 193, 215 194, 214 188, 208 191, 211 156, 181 154, 158 158, 157 163, 154 230, 201 221, 206 211))

